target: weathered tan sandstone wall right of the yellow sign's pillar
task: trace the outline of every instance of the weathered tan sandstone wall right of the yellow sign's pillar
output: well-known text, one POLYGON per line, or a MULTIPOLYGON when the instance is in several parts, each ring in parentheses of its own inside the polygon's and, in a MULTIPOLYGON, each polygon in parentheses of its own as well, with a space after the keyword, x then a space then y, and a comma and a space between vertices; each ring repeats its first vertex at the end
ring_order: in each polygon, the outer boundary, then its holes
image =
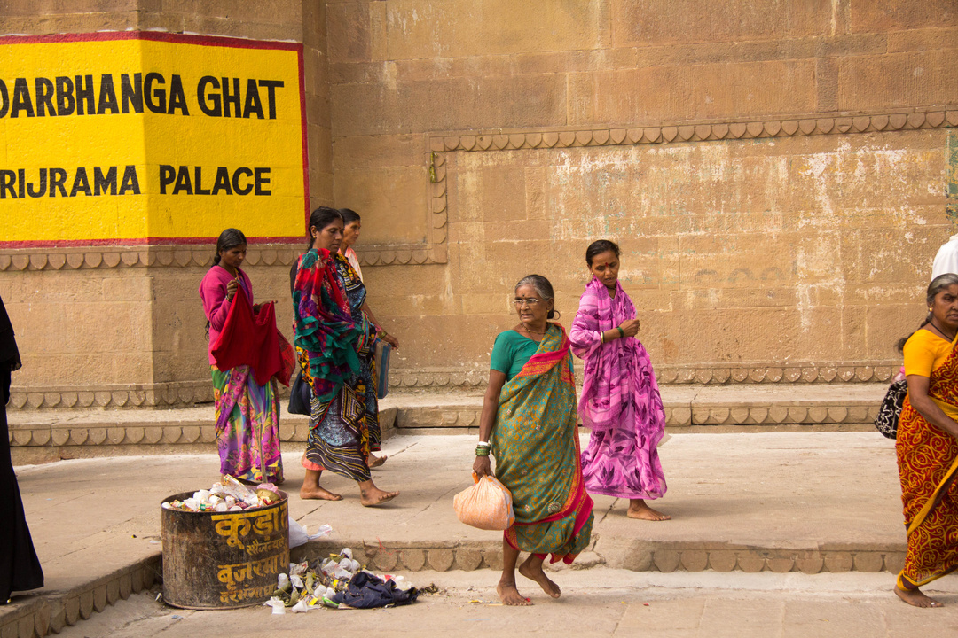
POLYGON ((951 234, 958 8, 330 2, 335 200, 404 385, 482 385, 514 282, 619 241, 670 382, 887 379, 951 234))

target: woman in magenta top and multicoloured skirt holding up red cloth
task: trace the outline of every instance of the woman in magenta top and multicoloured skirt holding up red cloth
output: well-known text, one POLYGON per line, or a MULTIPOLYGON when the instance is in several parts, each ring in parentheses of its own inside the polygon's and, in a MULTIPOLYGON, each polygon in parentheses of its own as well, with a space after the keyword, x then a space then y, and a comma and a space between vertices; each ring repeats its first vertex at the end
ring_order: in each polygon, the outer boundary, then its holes
POLYGON ((222 231, 217 239, 213 267, 199 284, 199 297, 203 299, 210 332, 219 472, 247 483, 278 485, 283 482, 283 457, 280 455, 276 378, 259 385, 249 365, 220 370, 213 357, 213 346, 240 287, 246 302, 253 303, 253 286, 239 268, 245 258, 245 235, 237 229, 222 231))

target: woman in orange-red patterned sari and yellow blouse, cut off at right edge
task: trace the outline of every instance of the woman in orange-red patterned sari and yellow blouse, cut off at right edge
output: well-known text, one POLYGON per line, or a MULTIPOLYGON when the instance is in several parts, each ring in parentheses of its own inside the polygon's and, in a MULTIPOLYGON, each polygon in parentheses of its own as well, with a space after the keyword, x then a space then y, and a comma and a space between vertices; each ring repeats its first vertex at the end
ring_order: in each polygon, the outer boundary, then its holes
POLYGON ((958 275, 932 279, 926 300, 928 316, 902 340, 908 395, 895 450, 908 551, 895 593, 937 607, 919 587, 958 568, 958 275))

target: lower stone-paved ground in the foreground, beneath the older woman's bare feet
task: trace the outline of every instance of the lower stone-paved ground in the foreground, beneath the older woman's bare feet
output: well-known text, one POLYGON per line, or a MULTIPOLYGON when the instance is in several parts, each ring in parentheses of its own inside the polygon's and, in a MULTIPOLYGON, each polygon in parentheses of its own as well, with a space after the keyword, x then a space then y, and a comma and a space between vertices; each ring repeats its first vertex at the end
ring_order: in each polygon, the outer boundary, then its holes
MULTIPOLYGON (((945 608, 916 609, 891 593, 879 574, 690 574, 595 568, 555 579, 559 601, 533 584, 525 595, 535 605, 495 604, 496 575, 478 572, 414 572, 413 583, 436 583, 439 594, 394 609, 274 616, 266 607, 231 611, 187 611, 156 603, 149 594, 121 601, 62 638, 110 636, 362 635, 447 636, 557 635, 660 638, 829 638, 952 636, 958 631, 958 579, 929 589, 945 608)), ((520 583, 520 586, 522 583, 520 583)))

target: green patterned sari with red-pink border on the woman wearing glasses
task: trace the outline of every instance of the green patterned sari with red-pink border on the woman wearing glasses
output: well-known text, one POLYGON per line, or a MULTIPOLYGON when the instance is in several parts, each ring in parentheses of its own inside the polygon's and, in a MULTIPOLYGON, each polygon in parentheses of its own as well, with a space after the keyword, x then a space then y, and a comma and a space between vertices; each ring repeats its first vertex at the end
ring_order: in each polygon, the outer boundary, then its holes
POLYGON ((550 323, 536 354, 503 386, 492 431, 495 476, 513 493, 506 541, 551 562, 571 563, 592 533, 579 450, 569 339, 550 323))

